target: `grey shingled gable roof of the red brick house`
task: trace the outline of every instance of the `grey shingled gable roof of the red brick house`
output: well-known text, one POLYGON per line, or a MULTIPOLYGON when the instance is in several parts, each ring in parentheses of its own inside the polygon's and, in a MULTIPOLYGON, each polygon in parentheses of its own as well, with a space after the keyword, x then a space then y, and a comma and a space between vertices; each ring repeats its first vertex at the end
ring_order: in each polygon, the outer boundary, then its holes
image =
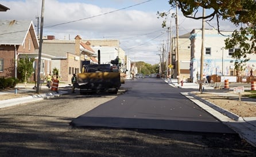
POLYGON ((38 49, 36 32, 32 21, 0 20, 0 45, 22 45, 30 33, 34 46, 38 49))

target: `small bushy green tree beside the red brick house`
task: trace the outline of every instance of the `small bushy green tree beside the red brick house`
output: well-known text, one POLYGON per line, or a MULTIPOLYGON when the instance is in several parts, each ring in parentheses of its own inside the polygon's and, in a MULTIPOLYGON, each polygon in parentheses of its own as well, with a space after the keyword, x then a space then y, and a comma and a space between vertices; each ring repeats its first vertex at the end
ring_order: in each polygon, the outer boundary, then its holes
POLYGON ((33 69, 33 62, 34 58, 20 58, 18 61, 18 66, 17 66, 17 74, 18 78, 22 82, 28 82, 28 78, 30 78, 34 72, 33 69))

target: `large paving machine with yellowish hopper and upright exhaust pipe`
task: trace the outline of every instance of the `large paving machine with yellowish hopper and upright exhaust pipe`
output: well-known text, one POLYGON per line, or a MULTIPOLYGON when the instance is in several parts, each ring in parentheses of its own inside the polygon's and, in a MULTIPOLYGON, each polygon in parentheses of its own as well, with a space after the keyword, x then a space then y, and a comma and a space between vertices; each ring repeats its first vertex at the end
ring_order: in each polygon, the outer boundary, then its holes
POLYGON ((118 57, 111 60, 111 64, 100 64, 99 52, 98 58, 98 64, 83 62, 84 73, 77 74, 76 88, 80 88, 80 94, 99 91, 117 94, 121 83, 125 83, 125 76, 119 70, 118 57))

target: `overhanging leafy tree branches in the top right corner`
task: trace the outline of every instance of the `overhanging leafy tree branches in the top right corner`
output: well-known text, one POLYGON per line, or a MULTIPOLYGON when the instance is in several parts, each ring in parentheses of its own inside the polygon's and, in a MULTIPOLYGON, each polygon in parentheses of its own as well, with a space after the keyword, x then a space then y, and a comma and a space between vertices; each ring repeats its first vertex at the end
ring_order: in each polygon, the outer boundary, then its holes
MULTIPOLYGON (((179 7, 183 15, 193 19, 208 19, 211 21, 216 18, 218 31, 220 32, 219 20, 227 20, 236 27, 230 37, 225 40, 225 49, 239 47, 232 57, 236 59, 236 70, 242 70, 244 63, 250 60, 247 54, 256 52, 256 1, 255 0, 170 0, 170 6, 179 7), (211 12, 204 17, 197 14, 200 8, 208 9, 211 12)), ((160 17, 165 17, 165 13, 158 13, 160 17)), ((165 21, 162 27, 165 27, 165 21)))

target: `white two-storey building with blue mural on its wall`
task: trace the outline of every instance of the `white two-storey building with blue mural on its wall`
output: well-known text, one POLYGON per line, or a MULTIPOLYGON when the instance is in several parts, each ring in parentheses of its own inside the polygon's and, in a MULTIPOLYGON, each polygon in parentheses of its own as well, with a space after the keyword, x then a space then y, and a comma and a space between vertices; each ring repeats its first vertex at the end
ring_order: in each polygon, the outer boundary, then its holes
MULTIPOLYGON (((203 63, 203 76, 207 75, 250 75, 250 71, 253 74, 256 74, 256 55, 248 54, 247 57, 250 58, 250 61, 246 63, 245 71, 240 71, 237 74, 235 70, 235 59, 232 58, 232 54, 239 47, 234 47, 234 49, 226 50, 224 49, 225 43, 224 40, 228 38, 228 35, 232 34, 232 31, 221 31, 221 34, 218 33, 218 30, 215 29, 205 29, 204 32, 204 63, 203 63)), ((197 74, 200 76, 200 66, 201 66, 201 29, 193 29, 189 37, 191 41, 191 53, 190 53, 190 77, 193 79, 193 82, 196 82, 197 74)))

